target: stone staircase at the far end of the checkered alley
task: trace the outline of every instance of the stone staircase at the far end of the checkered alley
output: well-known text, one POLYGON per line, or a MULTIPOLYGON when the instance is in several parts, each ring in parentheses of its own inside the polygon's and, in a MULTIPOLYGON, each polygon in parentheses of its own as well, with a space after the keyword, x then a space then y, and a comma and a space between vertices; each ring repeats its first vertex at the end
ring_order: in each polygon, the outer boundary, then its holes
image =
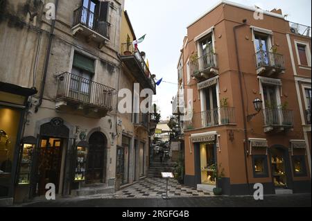
POLYGON ((150 167, 148 168, 148 177, 161 178, 161 172, 173 172, 174 162, 160 161, 160 156, 156 155, 150 161, 150 167))

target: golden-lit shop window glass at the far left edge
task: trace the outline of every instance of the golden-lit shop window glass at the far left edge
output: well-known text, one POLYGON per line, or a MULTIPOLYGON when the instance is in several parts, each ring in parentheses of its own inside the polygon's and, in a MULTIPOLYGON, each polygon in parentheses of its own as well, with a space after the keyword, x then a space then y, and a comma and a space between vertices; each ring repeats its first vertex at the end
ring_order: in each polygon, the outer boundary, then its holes
POLYGON ((0 197, 8 196, 21 113, 0 106, 0 197))

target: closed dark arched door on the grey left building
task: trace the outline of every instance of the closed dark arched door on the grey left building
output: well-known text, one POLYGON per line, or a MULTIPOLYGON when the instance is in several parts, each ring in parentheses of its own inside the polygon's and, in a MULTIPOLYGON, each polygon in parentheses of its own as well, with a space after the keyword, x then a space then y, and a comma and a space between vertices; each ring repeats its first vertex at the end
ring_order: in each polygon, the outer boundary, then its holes
POLYGON ((105 180, 107 139, 101 132, 94 132, 89 138, 87 159, 87 183, 105 180))

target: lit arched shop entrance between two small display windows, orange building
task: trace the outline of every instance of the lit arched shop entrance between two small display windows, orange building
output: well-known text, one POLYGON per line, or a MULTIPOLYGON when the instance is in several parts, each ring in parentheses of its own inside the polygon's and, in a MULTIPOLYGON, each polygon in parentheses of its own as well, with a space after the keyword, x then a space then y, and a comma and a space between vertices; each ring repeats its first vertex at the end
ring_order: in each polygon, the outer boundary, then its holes
POLYGON ((270 148, 272 179, 275 188, 291 188, 291 170, 288 151, 284 148, 270 148))

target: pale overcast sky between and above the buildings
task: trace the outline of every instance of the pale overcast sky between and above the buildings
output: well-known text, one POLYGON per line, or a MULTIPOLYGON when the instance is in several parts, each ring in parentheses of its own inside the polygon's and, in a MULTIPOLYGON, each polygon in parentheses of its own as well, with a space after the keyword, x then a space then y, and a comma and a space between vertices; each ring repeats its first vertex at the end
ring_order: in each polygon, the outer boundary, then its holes
MULTIPOLYGON (((287 19, 311 26, 311 0, 232 0, 263 10, 281 8, 287 19)), ((150 72, 164 81, 157 87, 153 101, 161 109, 162 119, 171 116, 171 99, 177 93, 177 61, 187 26, 218 0, 125 0, 137 38, 146 34, 139 44, 146 52, 150 72), (170 84, 168 82, 174 82, 170 84)))

